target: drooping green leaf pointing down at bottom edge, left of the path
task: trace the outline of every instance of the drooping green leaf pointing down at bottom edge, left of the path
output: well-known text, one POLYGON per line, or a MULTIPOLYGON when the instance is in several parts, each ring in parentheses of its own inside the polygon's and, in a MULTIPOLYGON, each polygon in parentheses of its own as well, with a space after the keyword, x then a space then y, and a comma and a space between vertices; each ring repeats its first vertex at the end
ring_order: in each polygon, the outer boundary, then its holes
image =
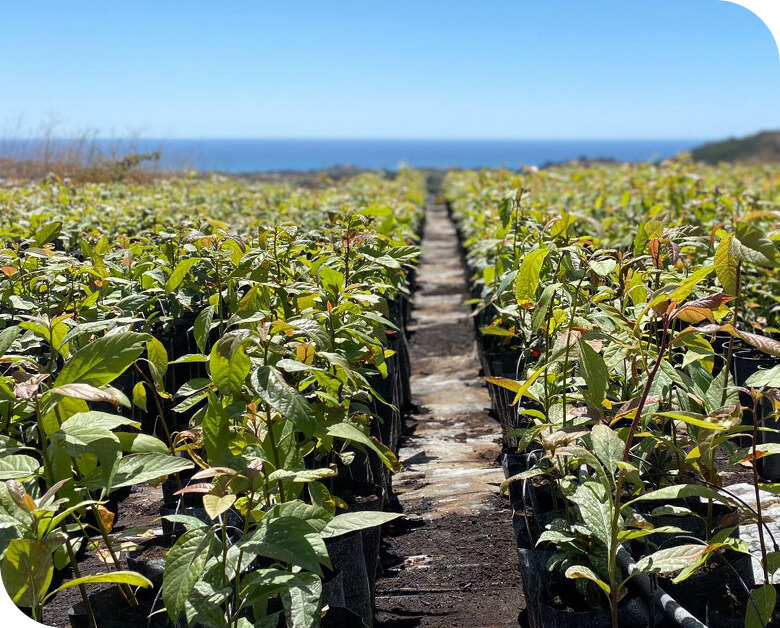
POLYGON ((162 598, 174 623, 206 568, 212 539, 210 528, 187 530, 165 556, 162 598))

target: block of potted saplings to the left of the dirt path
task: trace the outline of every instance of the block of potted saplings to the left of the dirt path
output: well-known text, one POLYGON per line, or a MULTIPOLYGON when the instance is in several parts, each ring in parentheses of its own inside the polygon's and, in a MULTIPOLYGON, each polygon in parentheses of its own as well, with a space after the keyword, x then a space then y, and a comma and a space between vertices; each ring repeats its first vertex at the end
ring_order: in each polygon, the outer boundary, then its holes
POLYGON ((46 621, 78 587, 74 626, 371 625, 423 198, 413 172, 0 191, 0 570, 20 608, 46 621), (162 561, 114 526, 146 483, 162 561), (82 573, 93 552, 106 568, 82 573))

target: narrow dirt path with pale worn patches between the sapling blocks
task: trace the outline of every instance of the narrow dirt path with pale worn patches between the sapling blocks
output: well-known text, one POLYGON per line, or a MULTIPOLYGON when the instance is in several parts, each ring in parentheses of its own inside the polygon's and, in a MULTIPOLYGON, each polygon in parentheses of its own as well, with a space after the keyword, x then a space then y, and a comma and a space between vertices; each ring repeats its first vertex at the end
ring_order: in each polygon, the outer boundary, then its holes
POLYGON ((517 626, 523 607, 511 512, 498 497, 499 426, 478 377, 454 225, 429 206, 410 342, 412 394, 377 582, 377 626, 517 626))

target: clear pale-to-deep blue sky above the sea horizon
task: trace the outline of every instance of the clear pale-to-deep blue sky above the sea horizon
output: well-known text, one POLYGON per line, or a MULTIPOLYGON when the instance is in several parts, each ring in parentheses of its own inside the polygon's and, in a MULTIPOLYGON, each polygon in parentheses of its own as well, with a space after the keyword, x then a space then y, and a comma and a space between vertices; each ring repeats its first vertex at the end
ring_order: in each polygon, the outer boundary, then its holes
POLYGON ((719 138, 780 128, 717 0, 0 0, 0 135, 719 138), (21 119, 21 123, 19 120, 21 119))

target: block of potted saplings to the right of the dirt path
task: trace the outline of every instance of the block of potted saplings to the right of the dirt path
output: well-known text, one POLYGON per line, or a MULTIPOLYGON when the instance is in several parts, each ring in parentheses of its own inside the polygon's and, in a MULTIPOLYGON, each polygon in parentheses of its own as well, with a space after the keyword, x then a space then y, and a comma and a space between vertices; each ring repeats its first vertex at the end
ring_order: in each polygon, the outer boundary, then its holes
POLYGON ((777 173, 682 159, 444 189, 532 625, 773 624, 777 173))

